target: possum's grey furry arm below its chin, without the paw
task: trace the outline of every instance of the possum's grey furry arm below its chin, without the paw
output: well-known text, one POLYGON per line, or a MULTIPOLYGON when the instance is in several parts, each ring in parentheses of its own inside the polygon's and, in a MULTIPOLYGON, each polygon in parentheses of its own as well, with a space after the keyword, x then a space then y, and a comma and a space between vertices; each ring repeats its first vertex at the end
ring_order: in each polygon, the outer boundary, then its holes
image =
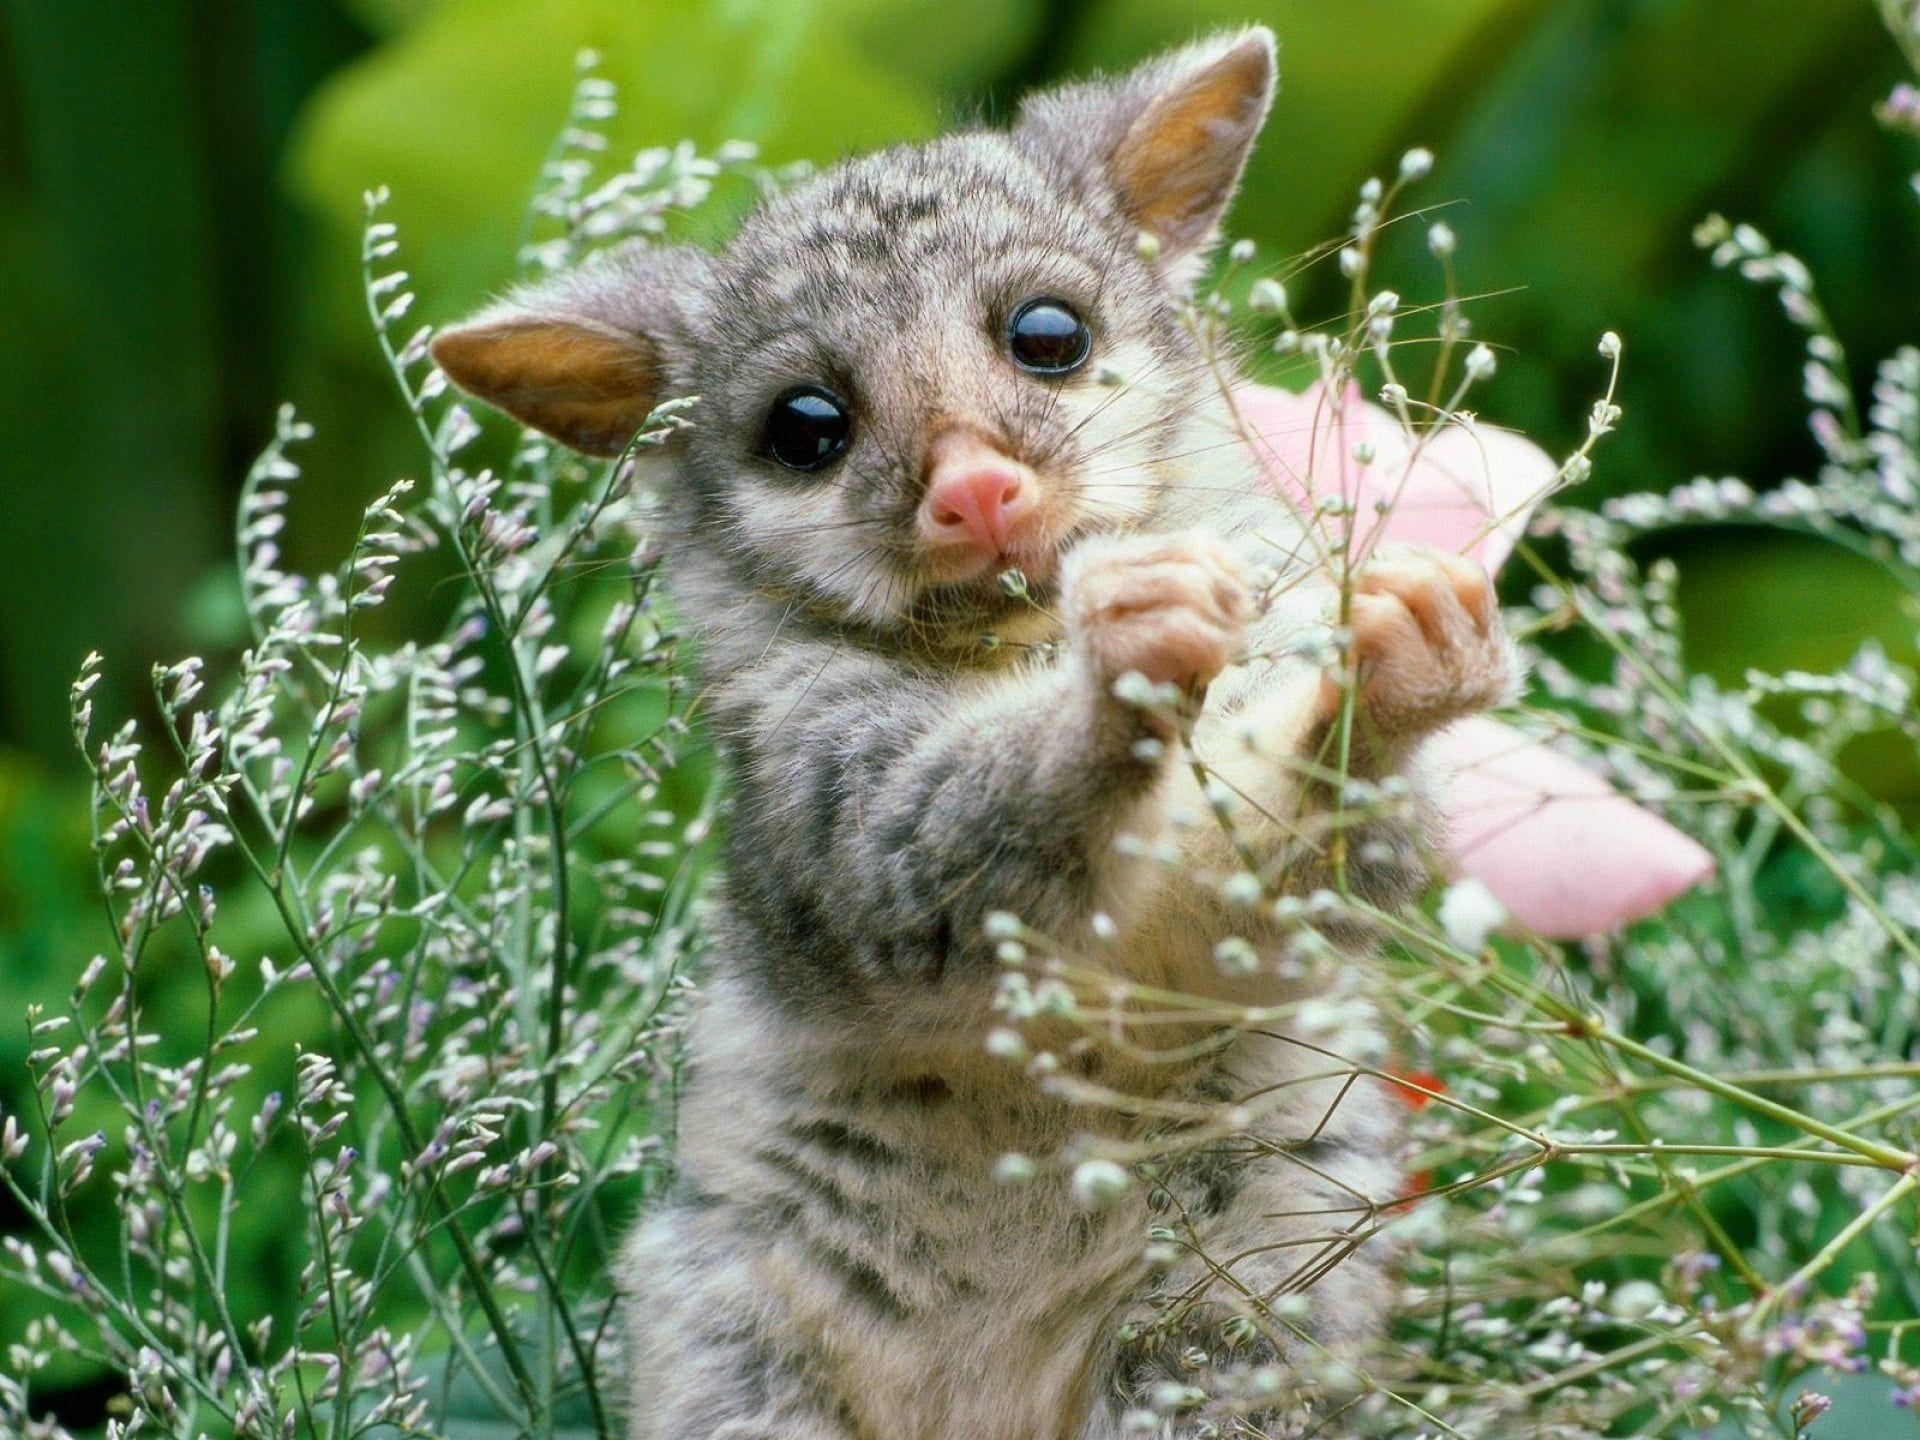
POLYGON ((1085 922, 1165 764, 1135 753, 1140 714, 1071 653, 958 682, 881 670, 829 660, 741 735, 735 899, 868 975, 979 968, 995 910, 1085 922))

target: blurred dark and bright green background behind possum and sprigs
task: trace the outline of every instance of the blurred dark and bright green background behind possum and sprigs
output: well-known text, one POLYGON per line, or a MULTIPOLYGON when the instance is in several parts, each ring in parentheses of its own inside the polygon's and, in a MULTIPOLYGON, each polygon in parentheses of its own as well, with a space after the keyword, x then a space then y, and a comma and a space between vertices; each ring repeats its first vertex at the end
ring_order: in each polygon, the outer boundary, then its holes
MULTIPOLYGON (((1448 202, 1476 328, 1507 348, 1490 417, 1565 447, 1596 338, 1626 338, 1594 501, 1814 465, 1795 336, 1693 250, 1707 211, 1801 253, 1860 361, 1916 332, 1920 286, 1884 280, 1920 275, 1920 213, 1910 146, 1872 121, 1897 56, 1870 0, 4 0, 0 1014, 98 948, 81 657, 108 657, 119 714, 152 660, 232 653, 232 499, 280 399, 319 426, 296 563, 332 564, 419 465, 359 294, 363 190, 392 186, 419 313, 445 321, 509 278, 584 46, 620 86, 616 150, 824 161, 1250 19, 1281 35, 1283 88, 1235 234, 1263 263, 1306 252, 1361 179, 1434 148, 1423 198, 1448 202)), ((1336 303, 1327 269, 1300 282, 1309 311, 1336 303)), ((1891 582, 1837 549, 1674 543, 1715 674, 1830 666, 1872 634, 1912 659, 1891 582)), ((1920 797, 1910 770, 1859 770, 1920 797)), ((23 1052, 8 1023, 0 1091, 23 1052)))

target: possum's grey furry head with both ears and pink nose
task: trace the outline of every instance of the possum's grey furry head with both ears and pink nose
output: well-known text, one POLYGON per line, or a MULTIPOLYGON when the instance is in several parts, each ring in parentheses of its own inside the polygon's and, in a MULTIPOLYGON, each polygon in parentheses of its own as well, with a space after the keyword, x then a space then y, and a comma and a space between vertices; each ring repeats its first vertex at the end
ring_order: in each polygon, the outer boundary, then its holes
POLYGON ((697 396, 680 518, 743 586, 874 630, 991 620, 1002 570, 1044 593, 1223 447, 1179 301, 1271 92, 1273 36, 1217 36, 837 165, 718 255, 605 252, 434 357, 593 455, 697 396))

